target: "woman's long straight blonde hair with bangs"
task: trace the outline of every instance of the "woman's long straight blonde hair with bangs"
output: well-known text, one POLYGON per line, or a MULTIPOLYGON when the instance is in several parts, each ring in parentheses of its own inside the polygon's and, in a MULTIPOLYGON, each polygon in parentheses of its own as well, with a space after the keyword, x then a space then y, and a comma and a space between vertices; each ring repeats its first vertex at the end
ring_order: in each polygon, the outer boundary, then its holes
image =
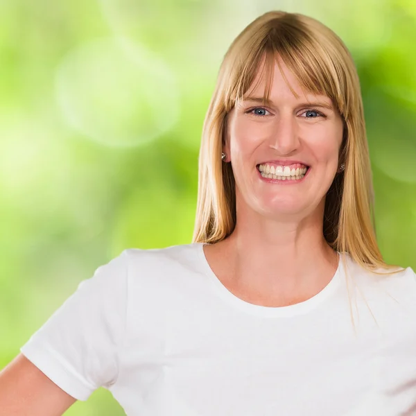
POLYGON ((193 242, 216 243, 234 230, 234 175, 231 164, 221 160, 227 114, 248 91, 262 62, 266 101, 272 68, 279 64, 277 55, 302 88, 331 98, 343 118, 340 162, 345 171, 336 175, 327 192, 323 227, 327 243, 366 270, 392 273, 398 266, 383 261, 376 242, 372 171, 352 55, 331 29, 299 13, 267 12, 252 21, 225 54, 203 126, 193 242))

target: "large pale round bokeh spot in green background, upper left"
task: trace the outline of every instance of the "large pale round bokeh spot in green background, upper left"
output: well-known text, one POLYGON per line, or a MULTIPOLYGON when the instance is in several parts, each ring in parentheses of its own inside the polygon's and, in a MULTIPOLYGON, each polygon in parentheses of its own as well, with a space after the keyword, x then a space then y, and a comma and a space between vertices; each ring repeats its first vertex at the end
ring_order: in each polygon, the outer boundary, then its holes
POLYGON ((56 94, 65 120, 106 146, 138 146, 170 130, 179 115, 175 76, 138 44, 97 40, 60 63, 56 94))

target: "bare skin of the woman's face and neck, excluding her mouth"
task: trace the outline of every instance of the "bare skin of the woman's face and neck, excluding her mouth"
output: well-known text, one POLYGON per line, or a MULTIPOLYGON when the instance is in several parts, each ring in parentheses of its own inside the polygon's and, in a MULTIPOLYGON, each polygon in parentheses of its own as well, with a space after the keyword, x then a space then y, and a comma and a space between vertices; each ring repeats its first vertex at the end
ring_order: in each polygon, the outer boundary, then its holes
POLYGON ((204 247, 224 286, 263 306, 313 297, 338 267, 338 254, 324 240, 322 225, 325 195, 339 172, 343 120, 329 97, 304 93, 279 62, 298 98, 276 63, 271 102, 247 99, 263 97, 265 81, 258 73, 253 83, 260 80, 257 87, 229 114, 223 152, 236 180, 236 228, 227 239, 204 247), (302 105, 315 101, 333 109, 302 105), (275 159, 299 160, 311 169, 299 184, 266 183, 256 166, 275 159))

